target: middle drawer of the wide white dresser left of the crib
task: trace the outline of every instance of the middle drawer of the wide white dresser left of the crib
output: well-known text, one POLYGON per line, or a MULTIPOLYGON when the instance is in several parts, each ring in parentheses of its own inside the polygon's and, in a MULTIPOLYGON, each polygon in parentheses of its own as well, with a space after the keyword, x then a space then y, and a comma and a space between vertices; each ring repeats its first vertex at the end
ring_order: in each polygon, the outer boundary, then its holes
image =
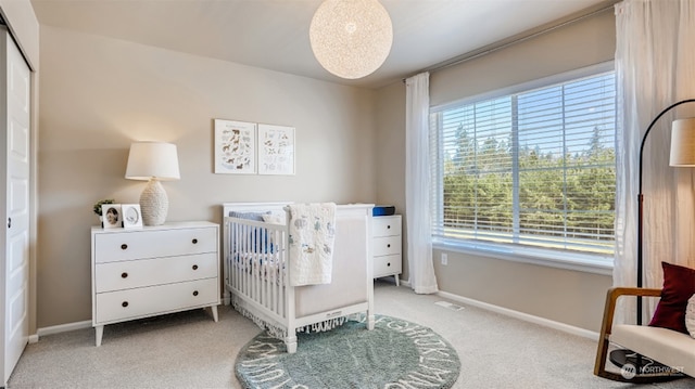
POLYGON ((97 263, 97 293, 132 289, 217 276, 215 252, 97 263))

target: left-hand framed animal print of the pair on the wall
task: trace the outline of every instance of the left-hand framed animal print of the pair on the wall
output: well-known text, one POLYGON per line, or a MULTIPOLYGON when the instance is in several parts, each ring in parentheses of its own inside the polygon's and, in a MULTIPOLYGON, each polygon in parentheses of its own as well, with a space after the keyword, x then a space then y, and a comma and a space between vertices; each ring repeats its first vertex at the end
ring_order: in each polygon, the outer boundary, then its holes
POLYGON ((256 124, 214 119, 217 174, 256 173, 256 124))

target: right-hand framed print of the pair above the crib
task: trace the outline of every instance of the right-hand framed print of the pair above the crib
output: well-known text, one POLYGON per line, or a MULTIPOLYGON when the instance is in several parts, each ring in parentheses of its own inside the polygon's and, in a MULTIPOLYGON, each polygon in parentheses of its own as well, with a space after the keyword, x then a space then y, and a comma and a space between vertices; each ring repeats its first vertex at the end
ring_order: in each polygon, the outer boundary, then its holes
POLYGON ((294 174, 294 127, 258 124, 258 174, 294 174))

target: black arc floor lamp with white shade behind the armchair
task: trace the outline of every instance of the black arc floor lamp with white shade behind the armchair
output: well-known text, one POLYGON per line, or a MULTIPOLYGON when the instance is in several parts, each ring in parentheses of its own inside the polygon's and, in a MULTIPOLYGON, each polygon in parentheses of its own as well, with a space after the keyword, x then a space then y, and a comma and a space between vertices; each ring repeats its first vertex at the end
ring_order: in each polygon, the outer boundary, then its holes
MULTIPOLYGON (((669 111, 675 108, 679 105, 686 103, 695 103, 695 99, 682 100, 673 103, 661 111, 649 124, 647 130, 642 137, 642 143, 640 145, 640 181, 637 193, 637 287, 643 287, 644 278, 644 259, 643 259, 643 221, 644 221, 644 195, 642 193, 642 173, 643 173, 643 155, 644 145, 646 144, 647 137, 652 132, 652 129, 656 122, 669 111)), ((673 167, 695 167, 695 117, 687 119, 673 120, 671 125, 671 147, 669 165, 673 167)), ((637 297, 637 325, 642 325, 642 297, 637 297)), ((632 363, 635 366, 642 366, 644 363, 653 363, 650 360, 644 361, 644 356, 635 354, 630 350, 614 350, 610 353, 610 360, 621 366, 627 362, 632 363)), ((669 377, 664 377, 669 378, 669 377)), ((677 377, 672 377, 677 378, 677 377)))

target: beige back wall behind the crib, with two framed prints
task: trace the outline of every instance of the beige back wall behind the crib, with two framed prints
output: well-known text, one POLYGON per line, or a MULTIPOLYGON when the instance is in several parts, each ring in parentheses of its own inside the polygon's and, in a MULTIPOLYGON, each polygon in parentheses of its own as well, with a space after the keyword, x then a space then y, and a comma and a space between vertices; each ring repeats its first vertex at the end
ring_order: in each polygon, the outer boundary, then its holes
POLYGON ((91 319, 94 202, 137 203, 134 140, 178 146, 168 220, 223 202, 371 203, 375 92, 41 26, 38 327, 91 319), (296 128, 296 174, 213 173, 213 118, 296 128))

